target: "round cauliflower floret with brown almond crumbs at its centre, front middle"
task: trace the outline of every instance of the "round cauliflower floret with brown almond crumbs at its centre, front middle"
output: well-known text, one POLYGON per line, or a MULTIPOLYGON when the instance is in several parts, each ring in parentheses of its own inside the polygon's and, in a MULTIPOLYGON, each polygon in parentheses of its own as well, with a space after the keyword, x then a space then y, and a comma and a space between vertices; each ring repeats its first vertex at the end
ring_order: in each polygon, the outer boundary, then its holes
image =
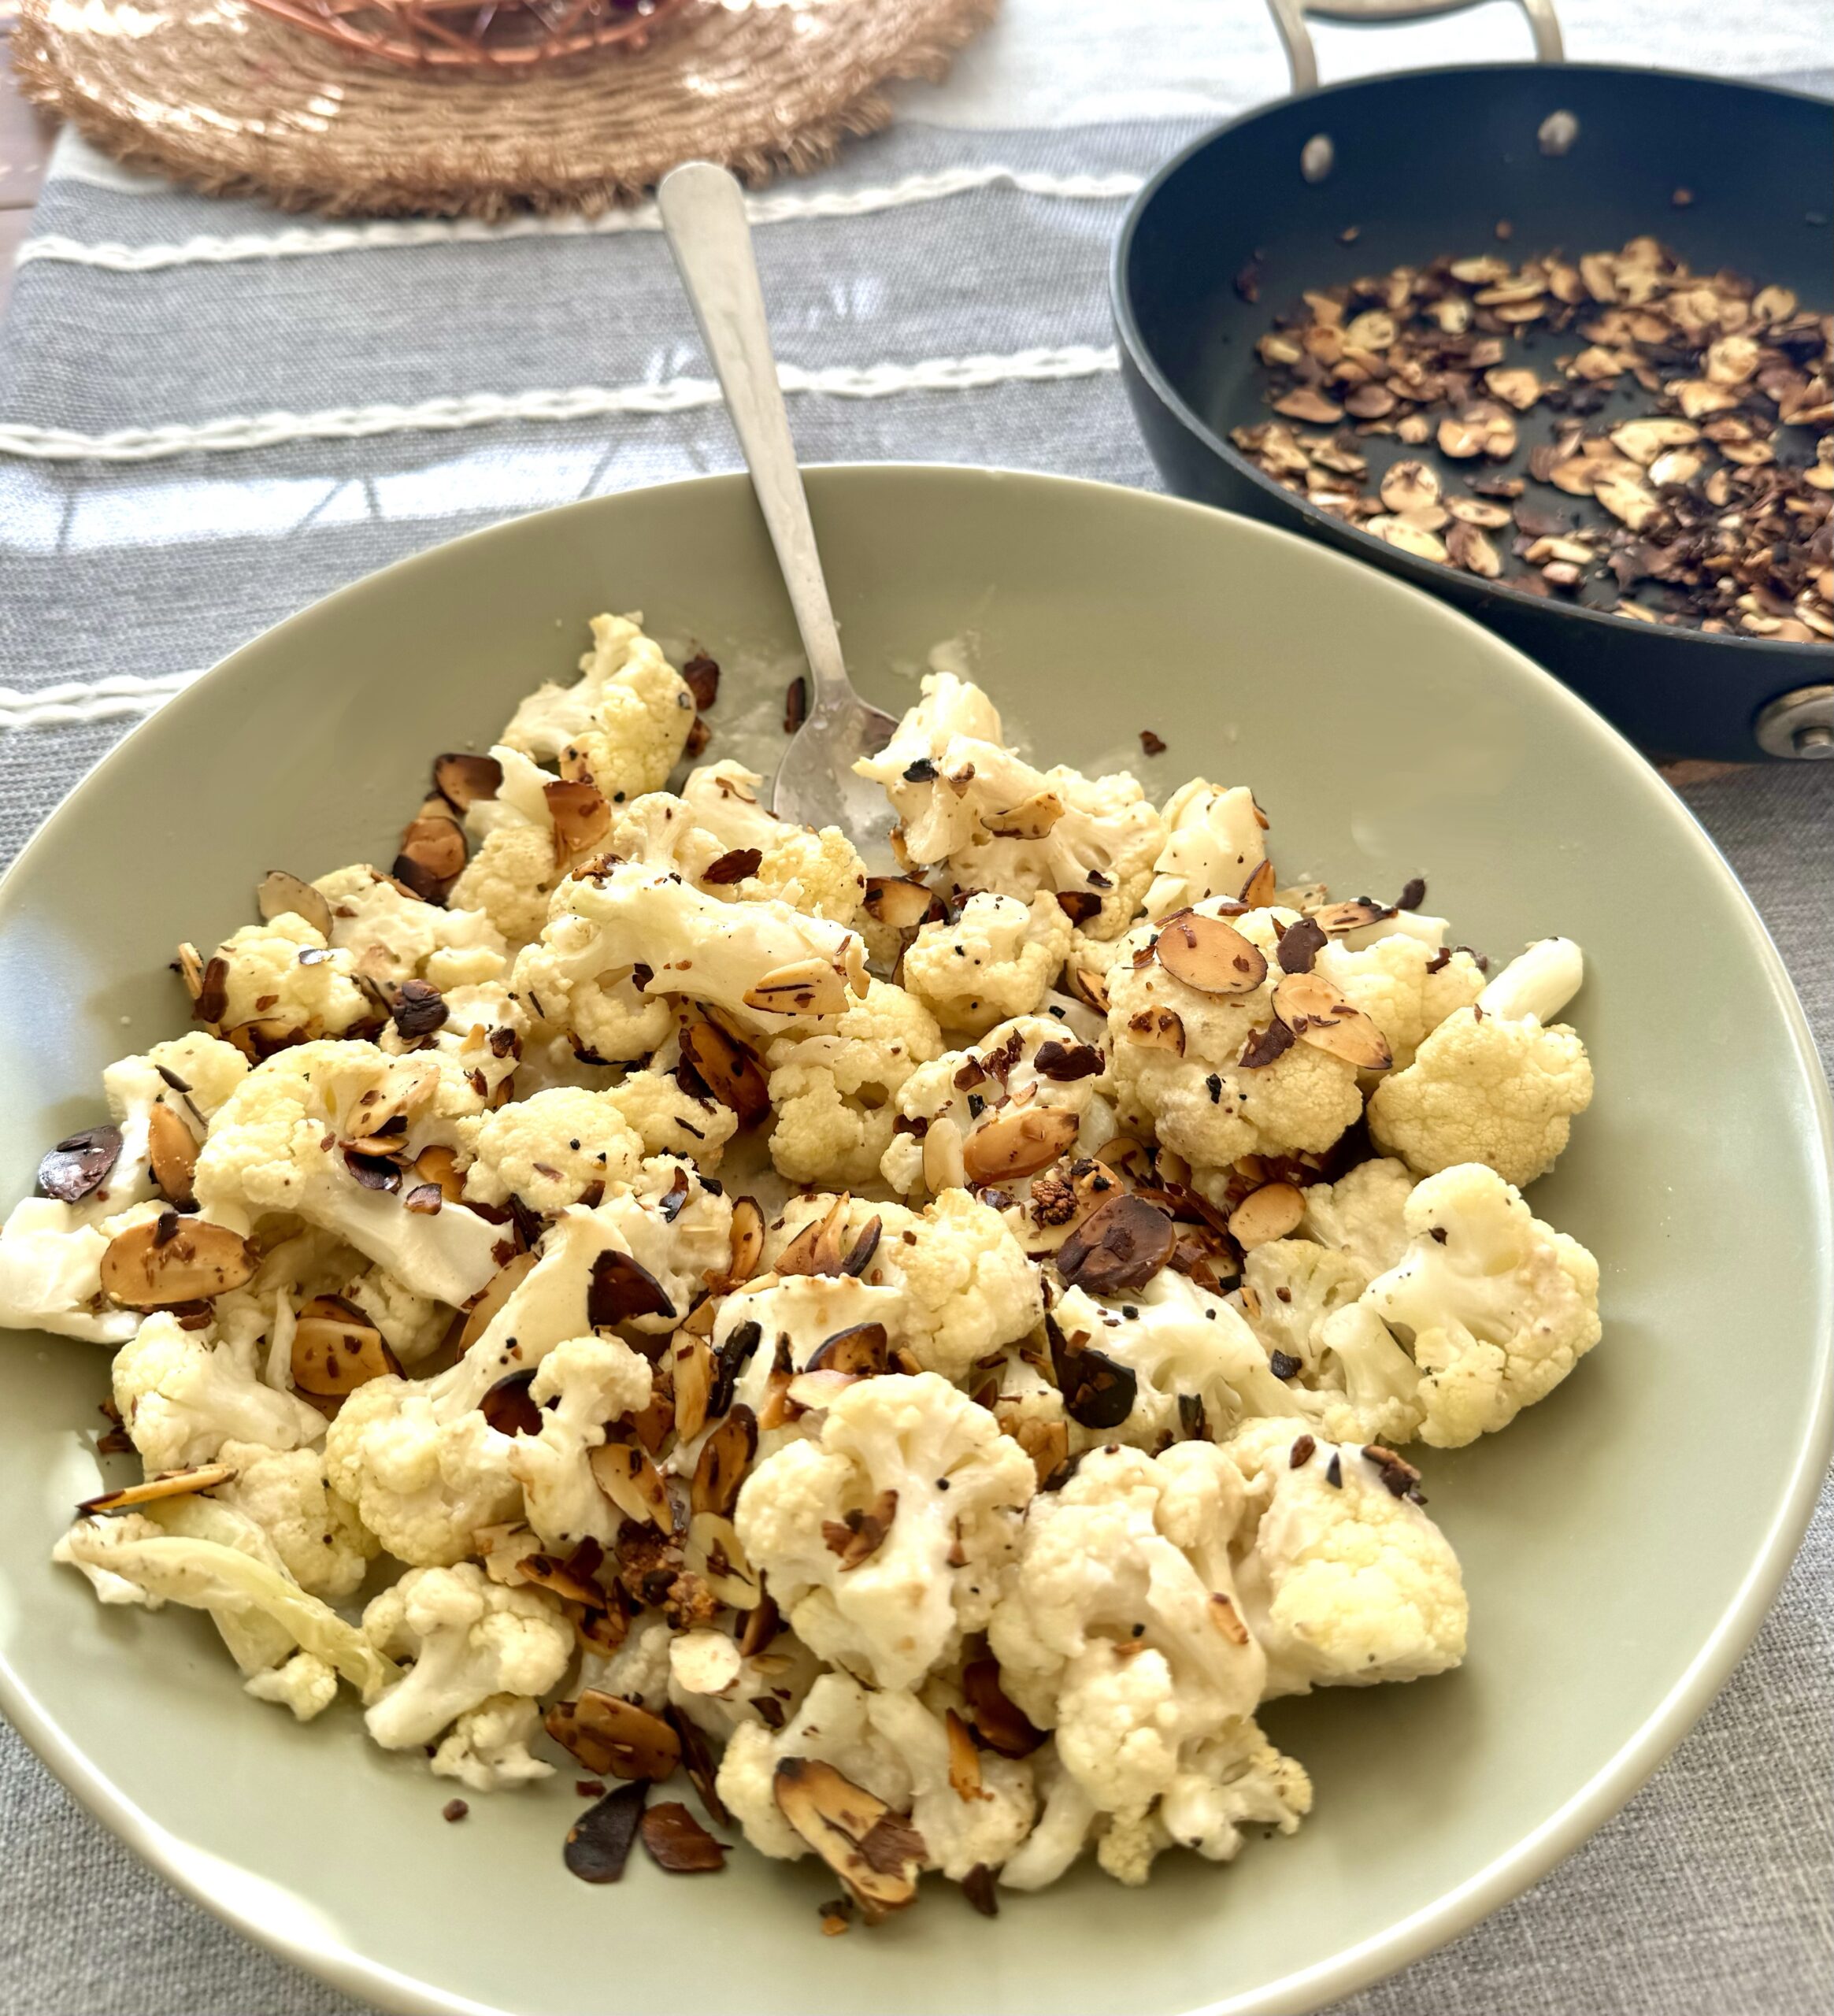
POLYGON ((1034 1486, 984 1407, 935 1373, 891 1373, 840 1393, 818 1441, 758 1464, 734 1522, 816 1657, 911 1687, 986 1625, 1034 1486))

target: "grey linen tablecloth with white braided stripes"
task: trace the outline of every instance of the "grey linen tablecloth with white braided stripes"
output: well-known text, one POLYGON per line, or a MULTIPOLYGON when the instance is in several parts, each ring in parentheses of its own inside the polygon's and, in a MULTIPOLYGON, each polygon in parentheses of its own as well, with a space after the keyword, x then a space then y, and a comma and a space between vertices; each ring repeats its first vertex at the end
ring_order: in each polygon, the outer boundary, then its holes
MULTIPOLYGON (((1155 482, 1104 357, 1121 198, 1183 139, 1274 95, 1282 79, 1262 12, 1246 0, 1159 0, 1153 36, 1137 18, 1119 20, 1129 12, 1008 0, 1000 30, 947 89, 907 93, 893 131, 772 192, 790 208, 859 200, 853 216, 760 228, 784 361, 897 367, 897 389, 867 387, 879 397, 792 399, 810 460, 1155 482), (990 179, 994 169, 1008 173, 990 179), (915 190, 923 200, 911 200, 911 177, 927 177, 915 190), (887 190, 903 200, 887 202, 887 190), (933 375, 921 373, 913 383, 911 367, 977 357, 996 363, 969 389, 925 389, 933 375)), ((1812 0, 1780 4, 1759 26, 1751 10, 1705 0, 1596 0, 1566 12, 1580 56, 1834 91, 1812 0)), ((1520 52, 1522 32, 1510 10, 1487 8, 1393 42, 1330 32, 1322 42, 1326 71, 1344 75, 1473 48, 1520 52)), ((705 377, 653 232, 433 232, 425 244, 381 246, 359 228, 343 250, 274 258, 258 254, 288 234, 324 244, 326 228, 183 196, 69 143, 58 167, 0 333, 0 859, 131 726, 119 710, 155 704, 157 694, 123 694, 121 681, 208 665, 326 591, 510 512, 734 464, 724 417, 707 405, 645 413, 603 411, 605 401, 597 417, 425 431, 367 411, 361 425, 379 431, 363 437, 312 437, 337 423, 308 419, 306 437, 220 454, 183 446, 195 439, 185 435, 149 460, 123 460, 119 444, 44 460, 34 452, 44 429, 95 437, 276 409, 411 409, 705 377), (97 718, 105 710, 117 718, 97 718)), ((627 407, 629 395, 615 403, 627 407)), ((1685 794, 1751 889, 1822 1054, 1834 1056, 1834 766, 1753 768, 1685 794)), ((1528 1897, 1344 2010, 1828 2008, 1830 1619, 1834 1496, 1757 1645, 1645 1792, 1528 1897)), ((0 1726, 0 2010, 353 2008, 167 1891, 0 1726)))

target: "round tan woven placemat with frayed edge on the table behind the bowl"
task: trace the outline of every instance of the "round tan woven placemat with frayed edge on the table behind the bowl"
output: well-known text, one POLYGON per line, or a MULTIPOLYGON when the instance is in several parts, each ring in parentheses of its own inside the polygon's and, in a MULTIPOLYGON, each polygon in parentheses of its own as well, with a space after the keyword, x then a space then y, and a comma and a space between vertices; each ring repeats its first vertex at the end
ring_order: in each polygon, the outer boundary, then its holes
POLYGON ((417 77, 242 0, 22 0, 30 99, 131 167, 331 216, 603 210, 677 161, 810 169, 939 79, 998 0, 691 0, 647 48, 417 77))

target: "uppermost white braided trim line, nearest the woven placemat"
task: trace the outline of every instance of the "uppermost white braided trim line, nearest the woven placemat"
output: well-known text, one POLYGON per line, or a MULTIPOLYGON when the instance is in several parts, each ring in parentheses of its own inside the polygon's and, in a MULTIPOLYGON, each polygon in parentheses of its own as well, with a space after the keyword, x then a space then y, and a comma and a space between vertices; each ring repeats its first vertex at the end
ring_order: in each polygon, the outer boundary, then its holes
MULTIPOLYGON (((1072 204, 1115 204, 1133 196, 1143 175, 1044 175, 1016 167, 949 167, 935 175, 907 175, 903 181, 877 190, 814 190, 782 196, 754 196, 746 210, 754 224, 788 224, 796 218, 865 218, 881 210, 903 210, 909 204, 933 204, 947 196, 967 196, 973 190, 1018 190, 1024 196, 1050 196, 1072 204)), ((607 210, 597 218, 508 218, 502 224, 482 224, 476 218, 419 220, 375 224, 294 226, 284 232, 238 232, 228 238, 200 236, 181 244, 127 246, 107 240, 87 244, 46 232, 26 238, 18 248, 18 264, 60 260, 67 266, 101 266, 107 272, 159 272, 167 266, 228 266, 236 260, 316 258, 324 252, 375 252, 407 246, 439 244, 500 244, 510 238, 617 238, 625 232, 657 232, 661 218, 655 204, 631 210, 607 210)))

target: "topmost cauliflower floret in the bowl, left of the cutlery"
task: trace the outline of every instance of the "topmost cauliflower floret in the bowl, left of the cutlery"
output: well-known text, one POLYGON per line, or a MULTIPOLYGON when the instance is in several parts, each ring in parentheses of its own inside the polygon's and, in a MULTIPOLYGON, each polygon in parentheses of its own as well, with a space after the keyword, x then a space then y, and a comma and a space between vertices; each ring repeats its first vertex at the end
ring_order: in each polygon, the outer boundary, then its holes
POLYGON ((576 685, 548 681, 522 702, 504 742, 570 778, 588 778, 613 804, 661 790, 693 728, 693 694, 643 617, 593 617, 593 649, 576 685))

